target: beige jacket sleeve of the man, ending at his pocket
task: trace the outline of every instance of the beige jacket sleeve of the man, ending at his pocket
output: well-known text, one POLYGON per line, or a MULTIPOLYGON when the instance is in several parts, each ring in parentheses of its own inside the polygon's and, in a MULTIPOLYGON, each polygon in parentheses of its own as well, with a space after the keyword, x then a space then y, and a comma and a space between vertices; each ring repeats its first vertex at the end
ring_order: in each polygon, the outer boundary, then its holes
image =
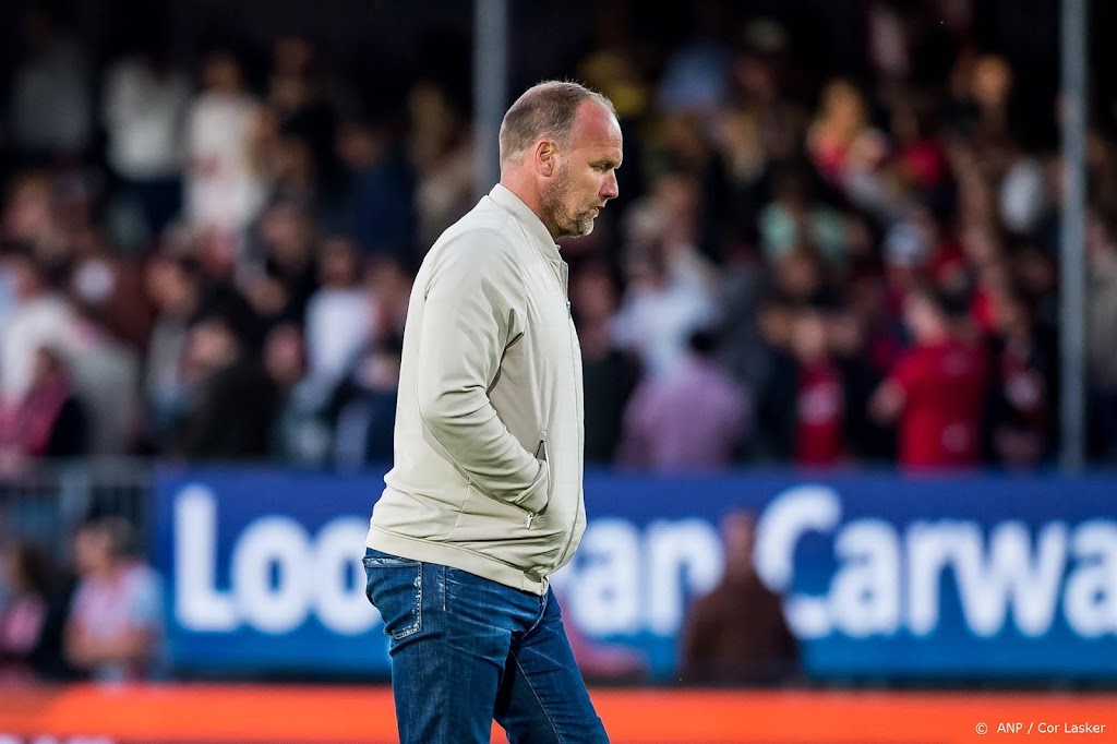
POLYGON ((433 443, 475 487, 534 514, 546 505, 546 464, 488 397, 505 350, 524 332, 524 293, 499 232, 472 230, 443 246, 426 287, 417 389, 433 443))

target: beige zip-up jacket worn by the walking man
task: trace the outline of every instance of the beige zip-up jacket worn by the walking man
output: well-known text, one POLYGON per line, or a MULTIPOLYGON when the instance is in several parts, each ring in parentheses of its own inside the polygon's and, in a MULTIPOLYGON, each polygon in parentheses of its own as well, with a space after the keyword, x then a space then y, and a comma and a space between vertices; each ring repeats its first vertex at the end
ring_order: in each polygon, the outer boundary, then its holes
POLYGON ((585 508, 567 276, 543 222, 499 184, 430 249, 369 547, 538 594, 570 561, 585 508))

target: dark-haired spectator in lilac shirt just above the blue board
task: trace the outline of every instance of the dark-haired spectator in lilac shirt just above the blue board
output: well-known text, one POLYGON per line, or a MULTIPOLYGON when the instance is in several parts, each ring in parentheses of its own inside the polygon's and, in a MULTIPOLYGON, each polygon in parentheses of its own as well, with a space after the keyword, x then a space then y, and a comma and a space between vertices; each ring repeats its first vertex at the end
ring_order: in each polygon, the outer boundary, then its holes
POLYGON ((622 466, 655 473, 729 467, 748 431, 750 399, 715 361, 713 334, 698 331, 682 364, 632 393, 620 446, 622 466))

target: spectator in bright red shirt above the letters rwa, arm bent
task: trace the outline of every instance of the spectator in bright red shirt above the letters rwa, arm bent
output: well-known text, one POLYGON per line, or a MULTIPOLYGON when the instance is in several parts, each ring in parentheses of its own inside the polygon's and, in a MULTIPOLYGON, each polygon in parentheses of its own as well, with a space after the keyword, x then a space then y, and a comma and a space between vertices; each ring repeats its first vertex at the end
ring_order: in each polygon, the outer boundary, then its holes
POLYGON ((958 338, 946 303, 930 289, 913 290, 904 315, 914 345, 873 394, 871 412, 880 421, 898 419, 901 467, 975 466, 987 379, 984 353, 958 338))

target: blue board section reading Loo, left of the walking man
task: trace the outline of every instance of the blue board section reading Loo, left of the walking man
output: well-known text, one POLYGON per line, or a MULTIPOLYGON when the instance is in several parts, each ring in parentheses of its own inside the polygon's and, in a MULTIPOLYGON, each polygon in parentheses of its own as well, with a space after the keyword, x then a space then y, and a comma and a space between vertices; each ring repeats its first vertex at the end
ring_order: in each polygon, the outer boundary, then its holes
POLYGON ((364 540, 383 474, 164 470, 154 560, 180 669, 388 674, 364 597, 364 540))

